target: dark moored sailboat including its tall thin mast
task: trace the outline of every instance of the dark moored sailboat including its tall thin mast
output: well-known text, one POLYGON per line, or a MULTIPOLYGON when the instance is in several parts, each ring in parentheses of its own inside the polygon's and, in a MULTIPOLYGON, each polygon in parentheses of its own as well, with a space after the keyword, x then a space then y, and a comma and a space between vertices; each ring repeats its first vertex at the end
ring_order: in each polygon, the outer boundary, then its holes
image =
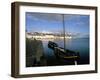
POLYGON ((48 47, 54 51, 54 54, 58 60, 73 61, 75 62, 75 64, 77 64, 77 61, 80 59, 79 52, 66 49, 64 15, 62 16, 63 16, 63 31, 64 31, 64 48, 59 47, 57 43, 52 41, 48 42, 48 47))

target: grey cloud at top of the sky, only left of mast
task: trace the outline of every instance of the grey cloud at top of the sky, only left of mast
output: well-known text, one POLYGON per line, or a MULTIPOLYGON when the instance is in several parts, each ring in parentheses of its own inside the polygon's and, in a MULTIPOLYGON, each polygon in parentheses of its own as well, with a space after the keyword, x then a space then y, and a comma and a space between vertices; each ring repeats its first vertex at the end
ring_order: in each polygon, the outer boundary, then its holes
POLYGON ((32 13, 27 12, 27 16, 33 18, 34 20, 47 20, 47 21, 62 21, 63 16, 61 14, 53 13, 32 13))

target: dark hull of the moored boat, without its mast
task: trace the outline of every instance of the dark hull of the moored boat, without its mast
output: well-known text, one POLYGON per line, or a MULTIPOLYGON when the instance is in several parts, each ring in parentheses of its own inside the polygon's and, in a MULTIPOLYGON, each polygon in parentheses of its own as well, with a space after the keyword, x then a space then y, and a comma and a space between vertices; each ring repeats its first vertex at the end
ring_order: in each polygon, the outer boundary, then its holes
POLYGON ((48 47, 54 50, 54 54, 57 59, 77 61, 80 58, 79 52, 75 52, 68 49, 65 50, 64 48, 59 47, 54 42, 49 41, 48 47))

